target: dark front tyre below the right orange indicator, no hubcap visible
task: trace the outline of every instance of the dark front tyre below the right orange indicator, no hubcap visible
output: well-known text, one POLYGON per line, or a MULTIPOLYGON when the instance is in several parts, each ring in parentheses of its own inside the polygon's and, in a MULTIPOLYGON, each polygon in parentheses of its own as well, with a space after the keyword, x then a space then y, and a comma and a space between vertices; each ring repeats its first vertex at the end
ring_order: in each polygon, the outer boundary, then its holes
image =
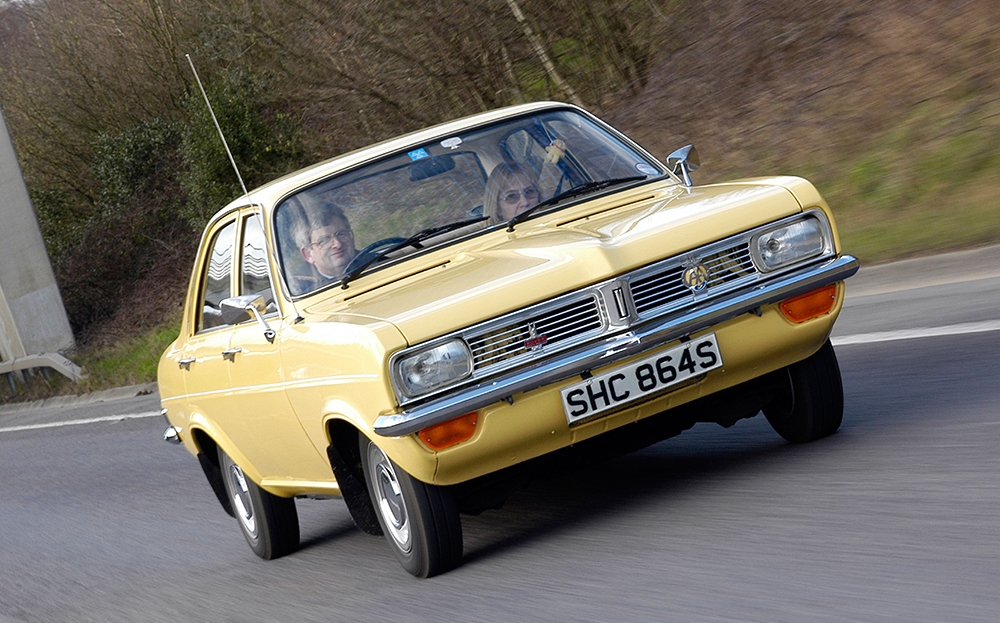
POLYGON ((829 340, 812 356, 785 368, 788 385, 764 415, 774 430, 792 443, 831 435, 844 419, 844 386, 829 340))

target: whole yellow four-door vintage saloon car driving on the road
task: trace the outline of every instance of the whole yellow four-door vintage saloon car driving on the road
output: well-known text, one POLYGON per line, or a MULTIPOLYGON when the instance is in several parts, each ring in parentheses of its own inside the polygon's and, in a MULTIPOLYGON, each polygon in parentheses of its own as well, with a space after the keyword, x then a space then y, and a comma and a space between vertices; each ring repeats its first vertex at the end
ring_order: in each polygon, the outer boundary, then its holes
POLYGON ((461 513, 553 461, 761 411, 833 433, 858 261, 809 182, 697 186, 698 164, 537 103, 248 193, 202 238, 164 437, 259 556, 298 547, 296 497, 341 497, 427 577, 461 561, 461 513))

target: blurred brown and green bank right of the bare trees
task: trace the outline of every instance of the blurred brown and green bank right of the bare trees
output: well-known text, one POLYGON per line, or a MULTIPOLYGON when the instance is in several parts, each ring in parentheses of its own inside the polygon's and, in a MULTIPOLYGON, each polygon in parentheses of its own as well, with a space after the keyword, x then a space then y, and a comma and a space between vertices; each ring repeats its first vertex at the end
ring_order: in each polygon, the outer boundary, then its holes
POLYGON ((709 2, 608 115, 702 180, 804 175, 885 261, 1000 239, 1000 16, 988 2, 709 2))

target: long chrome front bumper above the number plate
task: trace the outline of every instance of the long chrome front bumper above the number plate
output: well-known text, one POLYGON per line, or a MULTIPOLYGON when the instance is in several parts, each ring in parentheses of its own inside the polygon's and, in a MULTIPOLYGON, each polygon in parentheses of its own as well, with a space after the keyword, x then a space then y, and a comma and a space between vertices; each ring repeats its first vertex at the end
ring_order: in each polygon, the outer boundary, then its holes
POLYGON ((784 273, 772 280, 687 308, 682 313, 650 321, 632 330, 559 353, 551 359, 464 387, 401 413, 382 415, 375 420, 375 432, 383 437, 415 433, 514 394, 538 389, 586 370, 638 355, 745 314, 756 307, 778 303, 824 285, 843 281, 858 272, 859 267, 857 258, 842 255, 784 273))

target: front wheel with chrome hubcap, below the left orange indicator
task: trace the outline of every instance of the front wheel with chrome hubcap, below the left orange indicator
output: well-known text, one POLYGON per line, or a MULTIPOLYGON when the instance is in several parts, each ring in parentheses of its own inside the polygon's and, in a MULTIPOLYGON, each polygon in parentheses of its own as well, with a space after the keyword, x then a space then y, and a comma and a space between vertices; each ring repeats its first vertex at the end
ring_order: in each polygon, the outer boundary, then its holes
POLYGON ((418 578, 444 573, 462 560, 462 523, 448 489, 413 478, 364 435, 361 464, 389 547, 418 578))

